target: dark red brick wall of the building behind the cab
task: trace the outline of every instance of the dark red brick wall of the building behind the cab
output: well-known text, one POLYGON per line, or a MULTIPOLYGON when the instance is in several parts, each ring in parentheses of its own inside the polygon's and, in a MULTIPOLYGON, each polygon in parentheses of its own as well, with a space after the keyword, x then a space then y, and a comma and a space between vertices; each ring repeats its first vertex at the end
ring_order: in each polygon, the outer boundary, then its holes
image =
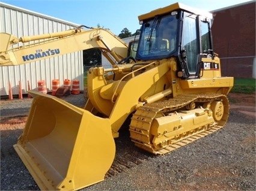
POLYGON ((255 1, 212 11, 213 48, 222 76, 252 78, 255 58, 255 1))

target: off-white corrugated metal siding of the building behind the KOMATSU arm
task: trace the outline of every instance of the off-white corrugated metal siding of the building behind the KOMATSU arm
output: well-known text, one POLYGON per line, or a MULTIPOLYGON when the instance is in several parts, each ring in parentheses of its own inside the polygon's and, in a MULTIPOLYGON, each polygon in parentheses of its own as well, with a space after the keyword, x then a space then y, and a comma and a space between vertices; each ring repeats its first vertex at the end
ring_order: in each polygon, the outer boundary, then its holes
MULTIPOLYGON (((16 37, 65 31, 78 26, 1 2, 0 17, 0 32, 7 32, 16 37)), ((37 90, 38 80, 46 80, 47 92, 51 92, 54 79, 59 79, 60 85, 64 79, 79 80, 80 89, 84 90, 83 54, 78 51, 19 66, 2 66, 0 75, 1 96, 8 95, 9 81, 13 95, 19 94, 19 81, 22 83, 24 94, 28 90, 28 81, 31 89, 37 90)))

